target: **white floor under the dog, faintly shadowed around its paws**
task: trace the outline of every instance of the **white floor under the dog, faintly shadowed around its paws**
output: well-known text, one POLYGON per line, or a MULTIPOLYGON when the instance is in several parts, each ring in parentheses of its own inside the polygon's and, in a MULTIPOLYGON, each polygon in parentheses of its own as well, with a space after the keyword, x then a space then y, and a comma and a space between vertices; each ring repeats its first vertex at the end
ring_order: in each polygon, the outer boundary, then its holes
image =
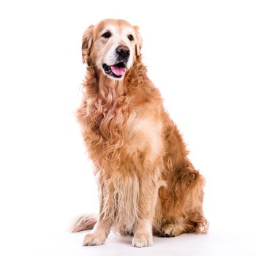
MULTIPOLYGON (((86 231, 87 232, 87 231, 86 231)), ((114 255, 256 255, 253 236, 241 236, 210 231, 208 235, 184 234, 176 238, 154 237, 154 245, 145 248, 135 248, 131 245, 132 237, 117 236, 110 233, 106 244, 102 246, 82 246, 81 242, 86 232, 69 233, 63 230, 54 233, 38 230, 30 236, 12 232, 11 244, 5 246, 2 256, 9 255, 59 255, 59 256, 114 256, 114 255)), ((10 241, 10 240, 9 240, 10 241)))

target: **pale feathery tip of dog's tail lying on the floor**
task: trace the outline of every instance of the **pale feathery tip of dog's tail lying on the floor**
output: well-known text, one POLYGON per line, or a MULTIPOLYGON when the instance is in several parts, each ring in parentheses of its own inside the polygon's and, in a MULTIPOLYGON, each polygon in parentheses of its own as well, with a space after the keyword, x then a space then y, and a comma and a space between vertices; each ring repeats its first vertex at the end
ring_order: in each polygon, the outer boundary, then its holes
POLYGON ((71 232, 78 232, 82 230, 91 230, 94 228, 98 220, 97 214, 80 215, 75 218, 70 230, 71 232))

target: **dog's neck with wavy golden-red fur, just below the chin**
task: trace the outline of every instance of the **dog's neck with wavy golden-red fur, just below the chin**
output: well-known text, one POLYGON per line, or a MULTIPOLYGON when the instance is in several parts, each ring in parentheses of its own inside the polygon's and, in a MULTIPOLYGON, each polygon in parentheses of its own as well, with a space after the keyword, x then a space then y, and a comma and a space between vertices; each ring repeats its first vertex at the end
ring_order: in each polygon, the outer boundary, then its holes
MULTIPOLYGON (((112 136, 111 120, 117 118, 113 124, 122 126, 122 122, 127 120, 127 114, 130 102, 136 104, 138 98, 140 103, 146 95, 146 67, 140 59, 135 62, 123 80, 113 80, 108 78, 101 70, 94 65, 87 66, 86 80, 84 81, 86 110, 91 116, 91 122, 101 129, 105 138, 112 136), (95 124, 96 123, 96 124, 95 124), (111 132, 108 135, 108 131, 111 132)), ((147 83, 147 87, 150 83, 147 83)), ((145 97, 145 101, 147 98, 145 97)))

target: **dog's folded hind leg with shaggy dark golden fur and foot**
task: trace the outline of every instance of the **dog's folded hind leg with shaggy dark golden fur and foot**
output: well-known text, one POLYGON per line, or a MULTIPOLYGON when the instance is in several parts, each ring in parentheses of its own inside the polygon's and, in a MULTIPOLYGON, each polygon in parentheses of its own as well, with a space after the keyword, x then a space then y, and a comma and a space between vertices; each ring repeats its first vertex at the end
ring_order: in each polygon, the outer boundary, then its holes
POLYGON ((208 222, 202 207, 204 183, 203 176, 192 167, 173 173, 169 187, 160 193, 163 203, 160 236, 207 233, 208 222))

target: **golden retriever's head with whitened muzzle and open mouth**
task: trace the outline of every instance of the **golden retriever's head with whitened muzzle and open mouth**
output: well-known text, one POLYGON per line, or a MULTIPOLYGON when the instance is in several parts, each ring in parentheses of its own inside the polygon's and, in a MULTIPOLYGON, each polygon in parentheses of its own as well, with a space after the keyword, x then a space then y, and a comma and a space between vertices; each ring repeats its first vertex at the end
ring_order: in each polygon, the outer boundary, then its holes
POLYGON ((121 80, 140 56, 141 46, 137 26, 125 20, 102 20, 83 34, 83 60, 89 57, 104 75, 121 80))

